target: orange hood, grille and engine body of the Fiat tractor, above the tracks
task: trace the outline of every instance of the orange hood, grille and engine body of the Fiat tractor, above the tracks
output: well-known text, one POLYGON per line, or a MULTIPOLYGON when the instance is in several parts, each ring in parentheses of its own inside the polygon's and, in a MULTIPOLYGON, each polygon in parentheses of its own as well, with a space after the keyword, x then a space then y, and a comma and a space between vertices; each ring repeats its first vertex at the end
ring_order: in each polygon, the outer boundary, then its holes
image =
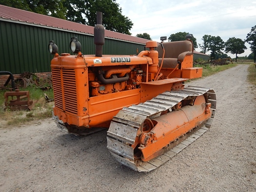
POLYGON ((70 125, 96 127, 111 121, 123 107, 145 102, 166 90, 171 91, 174 83, 200 75, 186 75, 188 70, 194 69, 193 55, 184 56, 180 69, 159 72, 156 46, 155 41, 149 41, 150 50, 138 56, 55 55, 51 61, 54 114, 70 125), (171 71, 169 79, 164 79, 171 71), (99 73, 110 83, 100 82, 99 73), (163 79, 155 81, 158 73, 163 79), (129 79, 125 82, 111 81, 113 75, 118 79, 126 74, 129 79))

